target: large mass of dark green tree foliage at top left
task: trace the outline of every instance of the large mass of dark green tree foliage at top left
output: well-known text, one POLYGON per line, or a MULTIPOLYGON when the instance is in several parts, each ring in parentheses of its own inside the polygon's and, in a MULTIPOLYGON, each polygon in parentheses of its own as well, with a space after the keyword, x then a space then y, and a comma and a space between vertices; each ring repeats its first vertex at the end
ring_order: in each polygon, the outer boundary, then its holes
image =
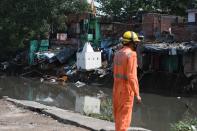
POLYGON ((66 29, 66 14, 86 7, 79 0, 0 0, 0 48, 22 47, 25 39, 44 36, 54 24, 57 30, 66 29))

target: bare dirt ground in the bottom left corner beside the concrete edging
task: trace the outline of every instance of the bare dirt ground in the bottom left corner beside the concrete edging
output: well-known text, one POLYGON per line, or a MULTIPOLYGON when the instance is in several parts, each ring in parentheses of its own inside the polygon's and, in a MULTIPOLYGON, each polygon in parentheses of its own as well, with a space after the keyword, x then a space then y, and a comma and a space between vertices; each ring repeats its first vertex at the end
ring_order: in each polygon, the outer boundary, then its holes
POLYGON ((46 115, 41 115, 0 99, 1 131, 88 131, 70 124, 62 124, 46 115))

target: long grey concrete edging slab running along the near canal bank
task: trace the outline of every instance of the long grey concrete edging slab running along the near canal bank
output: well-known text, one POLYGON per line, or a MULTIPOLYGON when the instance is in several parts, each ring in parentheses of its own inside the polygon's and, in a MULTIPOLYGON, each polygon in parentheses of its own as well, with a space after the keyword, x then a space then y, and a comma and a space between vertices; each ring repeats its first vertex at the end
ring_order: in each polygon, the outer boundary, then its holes
MULTIPOLYGON (((85 127, 90 130, 96 130, 96 131, 114 131, 114 123, 95 119, 92 117, 87 117, 84 115, 81 115, 79 113, 75 113, 68 110, 63 110, 57 107, 50 107, 46 106, 34 101, 26 101, 26 100, 16 100, 11 98, 5 98, 7 101, 13 102, 16 105, 22 106, 24 108, 29 108, 31 110, 39 110, 43 114, 47 114, 54 119, 57 119, 61 122, 70 122, 71 124, 85 127)), ((144 128, 138 128, 138 127, 130 127, 129 131, 150 131, 144 128)))

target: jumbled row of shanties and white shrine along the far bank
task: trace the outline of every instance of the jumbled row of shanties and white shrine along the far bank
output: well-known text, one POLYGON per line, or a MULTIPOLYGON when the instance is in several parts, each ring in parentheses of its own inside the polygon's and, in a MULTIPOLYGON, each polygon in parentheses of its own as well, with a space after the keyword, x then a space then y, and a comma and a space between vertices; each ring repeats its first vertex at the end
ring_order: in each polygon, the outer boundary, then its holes
MULTIPOLYGON (((121 48, 120 37, 126 30, 134 30, 144 36, 138 48, 139 69, 195 76, 197 26, 190 14, 194 11, 188 10, 188 22, 179 16, 147 13, 142 15, 141 23, 134 21, 132 24, 90 13, 69 14, 67 30, 52 31, 49 37, 30 40, 28 51, 17 54, 12 63, 15 66, 27 63, 28 67, 42 71, 52 70, 57 77, 66 76, 65 80, 69 77, 72 81, 112 77, 113 54, 121 48)), ((2 70, 9 69, 12 63, 1 63, 2 70)))

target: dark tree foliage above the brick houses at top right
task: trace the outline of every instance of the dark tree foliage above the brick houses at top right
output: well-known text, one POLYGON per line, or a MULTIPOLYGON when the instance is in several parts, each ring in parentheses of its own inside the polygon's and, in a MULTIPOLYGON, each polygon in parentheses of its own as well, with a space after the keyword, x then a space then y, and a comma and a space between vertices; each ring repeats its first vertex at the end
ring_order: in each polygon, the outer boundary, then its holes
POLYGON ((196 7, 196 0, 97 0, 100 11, 114 18, 128 18, 139 12, 160 12, 186 15, 186 9, 196 7))

